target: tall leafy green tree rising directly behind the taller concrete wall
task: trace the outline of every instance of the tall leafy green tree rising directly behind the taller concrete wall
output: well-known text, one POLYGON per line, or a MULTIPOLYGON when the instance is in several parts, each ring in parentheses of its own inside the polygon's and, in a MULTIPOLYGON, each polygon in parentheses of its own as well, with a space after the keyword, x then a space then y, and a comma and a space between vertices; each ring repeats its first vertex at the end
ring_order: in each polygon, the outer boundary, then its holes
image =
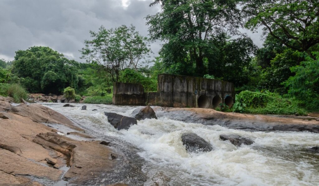
POLYGON ((239 24, 237 1, 155 0, 162 11, 146 17, 152 40, 165 42, 159 54, 167 67, 189 74, 206 74, 205 58, 214 46, 211 39, 227 31, 235 33, 239 24), (195 68, 194 68, 195 66, 195 68))

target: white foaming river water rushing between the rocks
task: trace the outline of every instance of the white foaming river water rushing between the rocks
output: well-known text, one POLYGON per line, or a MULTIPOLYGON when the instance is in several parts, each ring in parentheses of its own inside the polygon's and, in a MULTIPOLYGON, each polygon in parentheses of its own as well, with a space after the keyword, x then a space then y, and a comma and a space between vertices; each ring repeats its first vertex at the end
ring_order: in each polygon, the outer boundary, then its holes
MULTIPOLYGON (((86 104, 87 110, 81 110, 83 104, 74 104, 74 108, 45 105, 67 116, 96 139, 117 139, 119 145, 139 149, 137 153, 145 160, 143 172, 149 177, 145 185, 152 185, 156 179, 159 185, 319 184, 319 154, 305 150, 319 145, 319 134, 251 132, 183 123, 166 117, 138 121, 129 130, 118 131, 108 123, 104 111, 131 116, 137 107, 86 104), (181 141, 185 132, 196 133, 210 142, 214 150, 187 153, 181 141), (229 141, 219 140, 220 134, 239 134, 252 138, 255 143, 235 147, 229 141)), ((62 132, 70 131, 58 127, 62 132)))

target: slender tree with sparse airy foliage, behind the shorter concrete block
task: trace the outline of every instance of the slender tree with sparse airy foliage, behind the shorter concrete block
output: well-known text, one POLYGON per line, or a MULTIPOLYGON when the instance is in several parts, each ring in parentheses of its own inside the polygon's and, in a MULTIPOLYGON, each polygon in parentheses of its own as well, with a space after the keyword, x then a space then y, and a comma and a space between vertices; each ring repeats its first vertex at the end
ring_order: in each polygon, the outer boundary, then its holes
POLYGON ((137 68, 140 62, 147 62, 151 52, 148 39, 135 31, 131 25, 117 28, 99 28, 99 32, 90 31, 93 40, 85 40, 85 47, 80 50, 81 58, 89 63, 98 63, 111 74, 113 81, 118 81, 120 71, 137 68))

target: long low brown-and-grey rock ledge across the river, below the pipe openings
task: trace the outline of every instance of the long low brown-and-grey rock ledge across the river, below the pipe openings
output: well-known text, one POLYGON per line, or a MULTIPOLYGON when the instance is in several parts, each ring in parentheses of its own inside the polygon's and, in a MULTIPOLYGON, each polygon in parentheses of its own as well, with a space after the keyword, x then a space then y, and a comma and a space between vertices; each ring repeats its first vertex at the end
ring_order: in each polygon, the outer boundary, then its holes
MULTIPOLYGON (((269 115, 250 115, 225 113, 204 108, 156 108, 157 116, 165 116, 186 123, 221 125, 230 129, 260 131, 309 131, 319 133, 319 122, 301 119, 275 117, 269 115), (160 112, 159 112, 160 111, 160 112)), ((154 108, 154 110, 156 111, 154 108)))

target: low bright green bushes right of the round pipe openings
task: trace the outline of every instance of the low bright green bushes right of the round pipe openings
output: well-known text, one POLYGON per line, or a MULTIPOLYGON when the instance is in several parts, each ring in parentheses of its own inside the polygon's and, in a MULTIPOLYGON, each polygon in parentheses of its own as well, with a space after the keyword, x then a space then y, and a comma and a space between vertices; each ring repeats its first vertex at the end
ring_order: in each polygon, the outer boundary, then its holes
MULTIPOLYGON (((299 108, 293 100, 283 98, 269 91, 242 91, 236 95, 236 101, 245 106, 245 113, 276 114, 276 115, 306 115, 306 110, 299 108)), ((238 112, 238 110, 234 110, 238 112)))

